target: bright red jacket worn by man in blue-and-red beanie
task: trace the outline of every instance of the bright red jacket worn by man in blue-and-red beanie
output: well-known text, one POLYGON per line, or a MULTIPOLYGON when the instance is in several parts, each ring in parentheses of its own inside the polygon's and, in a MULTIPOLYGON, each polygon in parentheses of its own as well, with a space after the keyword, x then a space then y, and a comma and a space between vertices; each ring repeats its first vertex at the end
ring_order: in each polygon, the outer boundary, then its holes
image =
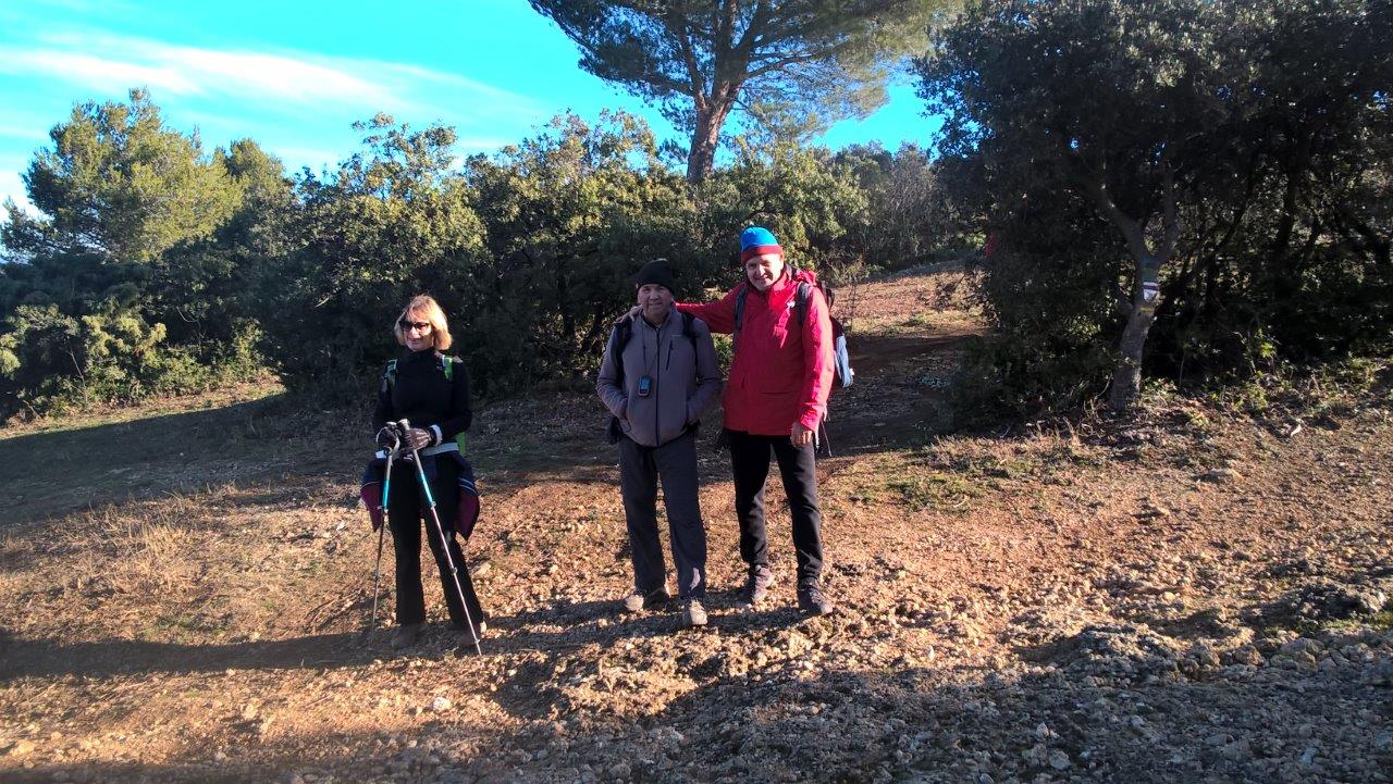
MULTIPOLYGON (((713 333, 736 330, 736 295, 741 283, 716 302, 677 308, 706 322, 713 333)), ((832 319, 827 301, 811 272, 784 274, 766 292, 749 285, 745 313, 722 398, 726 428, 756 436, 787 436, 794 422, 815 430, 827 414, 833 377, 832 319), (794 301, 798 283, 808 283, 807 319, 800 323, 794 301)))

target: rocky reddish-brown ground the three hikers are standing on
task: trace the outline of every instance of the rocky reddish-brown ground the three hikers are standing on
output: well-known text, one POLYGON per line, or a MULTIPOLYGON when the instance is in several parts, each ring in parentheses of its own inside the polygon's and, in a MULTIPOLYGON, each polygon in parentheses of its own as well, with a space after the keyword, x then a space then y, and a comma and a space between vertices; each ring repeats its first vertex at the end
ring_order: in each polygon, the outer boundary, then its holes
MULTIPOLYGON (((705 448, 710 627, 620 614, 603 419, 554 395, 476 419, 483 656, 456 649, 433 585, 425 642, 393 653, 361 634, 376 540, 338 447, 362 428, 266 437, 276 401, 191 414, 192 468, 169 450, 130 468, 163 492, 0 529, 0 777, 1393 781, 1386 386, 1284 416, 1158 395, 1126 422, 947 434, 976 330, 961 274, 872 283, 857 306, 820 468, 837 614, 795 611, 773 487, 780 582, 736 607, 705 448)), ((77 446, 130 450, 139 428, 77 446)))

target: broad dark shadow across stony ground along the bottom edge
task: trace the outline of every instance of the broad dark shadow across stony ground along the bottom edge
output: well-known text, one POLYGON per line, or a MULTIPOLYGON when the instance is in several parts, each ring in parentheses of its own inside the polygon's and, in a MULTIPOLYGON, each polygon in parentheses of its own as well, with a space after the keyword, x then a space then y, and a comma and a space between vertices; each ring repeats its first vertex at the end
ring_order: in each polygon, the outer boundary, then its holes
MULTIPOLYGON (((719 656, 692 653, 676 666, 695 687, 660 706, 581 712, 549 687, 560 710, 508 731, 446 717, 415 731, 411 749, 391 745, 387 731, 330 728, 234 737, 216 765, 208 749, 188 749, 163 765, 45 765, 10 770, 7 780, 220 783, 290 770, 362 780, 389 769, 429 781, 554 781, 581 778, 581 766, 634 781, 1390 780, 1389 749, 1341 752, 1343 734, 1385 710, 1354 674, 1293 675, 1282 685, 1190 680, 1158 677, 1148 656, 1116 656, 1084 678, 1074 670, 1091 667, 1077 653, 1087 641, 1075 643, 1056 660, 1071 678, 836 666, 812 674, 797 659, 733 675, 719 656)), ((535 689, 552 664, 527 661, 499 693, 535 689)))

